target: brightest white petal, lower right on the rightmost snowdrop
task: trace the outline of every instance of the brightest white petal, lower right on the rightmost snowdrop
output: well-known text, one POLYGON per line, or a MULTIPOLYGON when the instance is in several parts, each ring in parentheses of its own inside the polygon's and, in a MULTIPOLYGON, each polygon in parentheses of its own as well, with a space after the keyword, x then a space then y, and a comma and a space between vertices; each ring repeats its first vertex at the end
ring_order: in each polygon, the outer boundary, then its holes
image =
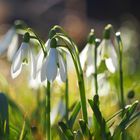
POLYGON ((111 58, 105 59, 105 64, 111 73, 115 72, 115 66, 113 65, 113 61, 111 58))

